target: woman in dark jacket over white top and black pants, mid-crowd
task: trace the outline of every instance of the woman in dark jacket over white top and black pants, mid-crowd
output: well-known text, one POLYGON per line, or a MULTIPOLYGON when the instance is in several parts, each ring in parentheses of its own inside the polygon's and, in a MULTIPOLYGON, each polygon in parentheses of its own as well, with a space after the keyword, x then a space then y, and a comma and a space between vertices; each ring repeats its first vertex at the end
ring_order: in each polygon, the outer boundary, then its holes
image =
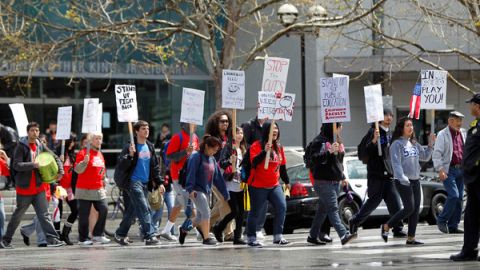
POLYGON ((225 170, 223 175, 228 193, 230 194, 230 200, 228 201, 230 213, 213 226, 213 233, 218 242, 223 242, 223 230, 227 227, 229 222, 235 220, 233 244, 245 245, 246 242, 242 240, 244 205, 240 168, 245 152, 247 151, 247 145, 245 137, 243 136, 243 130, 240 127, 237 127, 236 131, 235 142, 238 142, 236 149, 233 149, 231 144, 224 147, 219 162, 220 167, 225 170), (236 164, 235 172, 233 171, 233 164, 236 164))

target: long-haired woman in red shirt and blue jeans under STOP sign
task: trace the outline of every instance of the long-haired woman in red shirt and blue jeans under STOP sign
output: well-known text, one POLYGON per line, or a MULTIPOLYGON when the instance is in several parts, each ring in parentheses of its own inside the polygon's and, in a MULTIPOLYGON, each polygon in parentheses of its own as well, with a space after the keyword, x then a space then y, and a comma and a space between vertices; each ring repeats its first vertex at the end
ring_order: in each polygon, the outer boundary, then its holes
POLYGON ((283 238, 283 222, 287 209, 285 194, 280 185, 280 177, 285 182, 287 189, 290 189, 290 181, 287 175, 285 154, 280 145, 280 130, 275 123, 273 127, 272 143, 268 143, 271 123, 265 123, 262 127, 262 139, 256 141, 250 147, 250 161, 252 172, 248 179, 248 191, 250 193, 250 214, 247 222, 248 245, 250 247, 261 247, 257 241, 256 225, 260 219, 262 206, 268 200, 275 209, 273 222, 273 243, 287 245, 289 242, 283 238), (265 158, 270 151, 268 168, 265 169, 265 158))

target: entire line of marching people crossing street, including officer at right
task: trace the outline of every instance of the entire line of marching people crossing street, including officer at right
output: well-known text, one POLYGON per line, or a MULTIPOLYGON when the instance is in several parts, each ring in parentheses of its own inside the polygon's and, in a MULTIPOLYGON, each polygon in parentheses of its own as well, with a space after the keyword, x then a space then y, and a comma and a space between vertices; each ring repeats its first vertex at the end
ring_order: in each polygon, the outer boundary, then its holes
MULTIPOLYGON (((384 200, 390 218, 382 224, 379 237, 387 242, 392 231, 393 237, 404 238, 406 245, 424 244, 416 238, 420 162, 432 160, 448 194, 438 216, 438 229, 465 235, 462 251, 451 259, 476 260, 480 227, 480 94, 468 102, 476 118, 468 132, 462 128, 465 116, 452 111, 448 126, 437 136, 432 134, 427 146, 416 140, 413 119, 400 118, 394 125, 393 112, 384 110, 384 120, 379 126, 372 125, 358 146, 358 157, 367 166, 368 199, 348 226, 340 220, 337 203, 339 192, 349 185, 343 168, 342 125, 323 124, 305 149, 305 166, 319 197, 306 242, 331 242, 328 224, 333 226, 342 245, 354 241, 358 227, 384 200), (464 232, 459 224, 465 186, 468 195, 464 232), (408 220, 405 230, 404 220, 408 220)), ((195 128, 182 123, 181 130, 171 134, 169 126, 164 125, 154 144, 148 140, 148 122, 139 120, 133 125, 134 139, 123 147, 114 174, 126 209, 113 239, 109 239, 105 236, 108 206, 102 134, 85 134, 77 143, 77 136, 72 133, 62 150, 55 140, 54 126, 42 137, 39 124, 30 122, 27 137, 20 138, 8 152, 0 150, 0 174, 13 179, 16 190, 16 208, 6 230, 0 194, 0 248, 12 247, 12 239, 30 205, 36 216, 20 227, 26 245, 30 245, 31 234, 36 233, 39 247, 75 242, 90 246, 112 240, 128 246, 132 243, 128 237, 130 228, 138 221, 145 245, 158 245, 160 241, 178 241, 183 245, 193 230, 204 245, 231 240, 234 245, 262 247, 261 229, 268 205, 274 215, 273 244, 289 245, 282 234, 290 179, 280 126, 257 118, 236 126, 230 112, 222 110, 210 116, 202 138, 195 128), (37 157, 45 155, 58 167, 52 183, 45 183, 40 175, 37 157), (158 207, 153 206, 153 197, 161 200, 158 207), (53 214, 49 212, 50 204, 55 209, 53 214), (164 204, 168 220, 162 228, 164 204), (65 205, 70 214, 61 228, 65 205), (177 227, 182 209, 186 219, 177 227), (78 239, 70 237, 75 222, 78 239)))

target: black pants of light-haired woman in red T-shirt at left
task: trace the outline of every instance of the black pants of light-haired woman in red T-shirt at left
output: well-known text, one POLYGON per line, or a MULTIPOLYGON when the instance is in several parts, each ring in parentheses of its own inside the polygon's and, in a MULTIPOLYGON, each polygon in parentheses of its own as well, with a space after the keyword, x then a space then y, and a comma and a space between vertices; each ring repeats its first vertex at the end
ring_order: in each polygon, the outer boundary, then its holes
POLYGON ((105 231, 105 223, 107 221, 108 205, 107 200, 100 201, 78 201, 78 240, 84 242, 88 239, 88 216, 90 216, 90 209, 93 207, 98 211, 98 220, 93 228, 93 236, 103 236, 105 231))

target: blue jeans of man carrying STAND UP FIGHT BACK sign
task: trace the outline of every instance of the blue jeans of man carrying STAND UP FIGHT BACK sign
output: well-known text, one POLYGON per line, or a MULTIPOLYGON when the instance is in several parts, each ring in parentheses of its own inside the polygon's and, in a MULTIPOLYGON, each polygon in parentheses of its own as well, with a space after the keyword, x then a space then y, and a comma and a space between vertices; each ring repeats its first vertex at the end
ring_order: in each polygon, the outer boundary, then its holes
POLYGON ((138 221, 140 222, 142 234, 144 235, 145 239, 152 238, 154 235, 154 230, 147 201, 147 184, 143 184, 140 181, 130 181, 130 187, 127 192, 130 197, 130 205, 123 215, 120 226, 115 232, 116 235, 120 237, 126 237, 136 215, 138 221))

